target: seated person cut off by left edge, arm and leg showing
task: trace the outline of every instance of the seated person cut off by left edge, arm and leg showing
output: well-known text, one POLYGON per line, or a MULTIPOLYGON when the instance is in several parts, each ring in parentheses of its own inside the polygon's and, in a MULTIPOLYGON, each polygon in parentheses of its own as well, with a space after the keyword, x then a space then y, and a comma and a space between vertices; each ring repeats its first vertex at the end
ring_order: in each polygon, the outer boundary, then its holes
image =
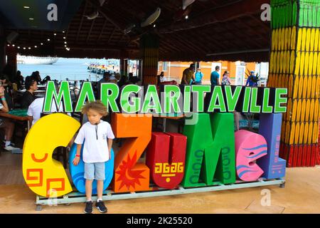
MULTIPOLYGON (((4 86, 0 86, 0 112, 8 113, 9 107, 6 103, 6 98, 4 97, 4 86)), ((12 135, 14 135, 14 123, 11 122, 9 119, 1 119, 0 118, 0 128, 5 128, 4 133, 4 150, 20 150, 20 148, 14 147, 11 143, 12 135)))

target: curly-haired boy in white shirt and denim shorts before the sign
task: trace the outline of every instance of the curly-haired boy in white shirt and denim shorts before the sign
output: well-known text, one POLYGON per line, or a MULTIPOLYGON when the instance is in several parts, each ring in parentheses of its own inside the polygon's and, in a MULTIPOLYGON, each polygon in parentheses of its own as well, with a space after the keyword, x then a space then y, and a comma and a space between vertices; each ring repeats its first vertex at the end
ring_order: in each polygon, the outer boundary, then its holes
POLYGON ((87 103, 82 108, 82 114, 86 114, 89 122, 82 125, 75 138, 77 143, 77 154, 73 165, 78 165, 82 143, 85 140, 82 159, 85 162, 85 214, 92 213, 92 182, 97 180, 97 202, 95 206, 101 213, 107 212, 102 201, 103 182, 105 180, 105 162, 111 158, 112 133, 111 125, 101 118, 106 116, 107 108, 101 101, 87 103))

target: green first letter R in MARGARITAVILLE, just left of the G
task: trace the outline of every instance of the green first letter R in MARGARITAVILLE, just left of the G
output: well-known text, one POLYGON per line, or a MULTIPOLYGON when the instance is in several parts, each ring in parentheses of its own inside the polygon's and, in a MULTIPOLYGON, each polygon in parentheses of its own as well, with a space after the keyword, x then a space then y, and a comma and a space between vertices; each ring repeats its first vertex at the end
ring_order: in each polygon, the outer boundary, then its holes
POLYGON ((112 112, 119 112, 119 107, 117 105, 117 98, 119 95, 119 87, 114 83, 102 83, 101 84, 101 94, 100 98, 104 105, 107 106, 107 111, 109 112, 109 105, 112 112), (109 91, 111 93, 109 94, 109 91))

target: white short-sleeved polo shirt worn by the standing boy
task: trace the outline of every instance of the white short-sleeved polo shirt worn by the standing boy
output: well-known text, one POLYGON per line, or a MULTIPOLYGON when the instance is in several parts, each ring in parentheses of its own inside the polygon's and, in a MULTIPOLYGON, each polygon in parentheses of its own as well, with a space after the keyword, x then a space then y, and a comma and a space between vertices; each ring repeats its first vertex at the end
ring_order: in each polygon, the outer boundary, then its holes
POLYGON ((83 162, 107 162, 109 160, 108 138, 114 139, 110 123, 100 120, 97 125, 92 125, 90 122, 82 125, 75 143, 82 144, 85 140, 83 162))

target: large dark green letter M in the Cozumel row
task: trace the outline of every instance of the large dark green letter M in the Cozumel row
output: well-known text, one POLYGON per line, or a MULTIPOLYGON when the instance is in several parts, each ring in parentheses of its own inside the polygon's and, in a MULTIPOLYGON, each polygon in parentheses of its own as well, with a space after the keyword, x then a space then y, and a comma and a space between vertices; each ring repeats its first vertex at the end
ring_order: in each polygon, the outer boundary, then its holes
POLYGON ((186 167, 181 185, 200 187, 235 182, 233 113, 194 113, 196 125, 185 125, 188 138, 186 167), (218 182, 215 182, 218 181, 218 182))

